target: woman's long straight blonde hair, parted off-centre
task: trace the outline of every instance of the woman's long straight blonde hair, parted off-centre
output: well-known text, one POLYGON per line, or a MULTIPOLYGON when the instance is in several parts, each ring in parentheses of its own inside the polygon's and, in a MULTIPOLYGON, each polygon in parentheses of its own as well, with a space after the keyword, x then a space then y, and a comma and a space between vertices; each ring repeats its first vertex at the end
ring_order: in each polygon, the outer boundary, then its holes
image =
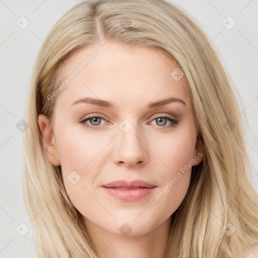
MULTIPOLYGON (((242 121, 229 75, 206 34, 180 8, 163 0, 83 2, 48 34, 38 54, 25 120, 23 194, 39 257, 95 257, 83 216, 62 183, 61 167, 48 160, 38 115, 53 119, 64 61, 83 47, 107 40, 148 46, 171 56, 187 78, 203 161, 192 167, 184 200, 171 216, 166 257, 237 257, 258 244, 257 193, 242 121), (227 223, 231 223, 227 224, 227 223), (226 225, 227 224, 227 225, 226 225), (224 226, 235 228, 225 234, 224 226)), ((234 88, 235 89, 235 88, 234 88)))

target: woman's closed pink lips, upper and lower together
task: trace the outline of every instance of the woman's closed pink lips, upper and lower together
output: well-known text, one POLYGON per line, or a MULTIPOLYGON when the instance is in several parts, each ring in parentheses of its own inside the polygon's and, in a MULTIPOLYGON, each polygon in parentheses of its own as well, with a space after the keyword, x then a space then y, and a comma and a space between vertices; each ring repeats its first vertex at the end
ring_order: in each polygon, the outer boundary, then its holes
POLYGON ((110 196, 124 202, 140 200, 150 195, 156 187, 156 185, 142 180, 116 180, 102 186, 110 196))

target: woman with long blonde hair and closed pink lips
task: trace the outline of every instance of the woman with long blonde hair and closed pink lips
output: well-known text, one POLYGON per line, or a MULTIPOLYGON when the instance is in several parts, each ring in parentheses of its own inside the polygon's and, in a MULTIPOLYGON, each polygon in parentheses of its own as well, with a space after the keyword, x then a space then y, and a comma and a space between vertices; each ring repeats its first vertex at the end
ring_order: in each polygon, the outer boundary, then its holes
POLYGON ((207 36, 168 2, 67 12, 42 45, 26 109, 39 257, 258 255, 231 87, 207 36))

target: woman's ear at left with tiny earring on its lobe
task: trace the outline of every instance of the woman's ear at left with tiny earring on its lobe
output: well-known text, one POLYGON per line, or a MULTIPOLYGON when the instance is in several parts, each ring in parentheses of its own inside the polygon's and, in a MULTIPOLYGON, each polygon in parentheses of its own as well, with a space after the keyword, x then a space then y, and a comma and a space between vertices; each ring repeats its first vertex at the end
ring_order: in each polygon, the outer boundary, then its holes
POLYGON ((59 155, 57 152, 53 132, 50 128, 50 123, 48 118, 43 114, 39 114, 38 124, 39 124, 40 132, 43 140, 43 146, 47 152, 47 157, 54 166, 59 166, 60 165, 59 155))

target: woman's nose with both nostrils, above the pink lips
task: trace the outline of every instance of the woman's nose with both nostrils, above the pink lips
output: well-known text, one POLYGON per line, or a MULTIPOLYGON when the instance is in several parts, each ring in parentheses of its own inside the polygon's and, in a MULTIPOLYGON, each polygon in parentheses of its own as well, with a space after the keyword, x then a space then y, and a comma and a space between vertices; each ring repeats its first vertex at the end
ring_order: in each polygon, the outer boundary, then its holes
POLYGON ((143 134, 139 135, 137 126, 134 125, 127 133, 118 128, 118 136, 114 141, 113 161, 117 165, 133 167, 148 162, 148 147, 143 134))

